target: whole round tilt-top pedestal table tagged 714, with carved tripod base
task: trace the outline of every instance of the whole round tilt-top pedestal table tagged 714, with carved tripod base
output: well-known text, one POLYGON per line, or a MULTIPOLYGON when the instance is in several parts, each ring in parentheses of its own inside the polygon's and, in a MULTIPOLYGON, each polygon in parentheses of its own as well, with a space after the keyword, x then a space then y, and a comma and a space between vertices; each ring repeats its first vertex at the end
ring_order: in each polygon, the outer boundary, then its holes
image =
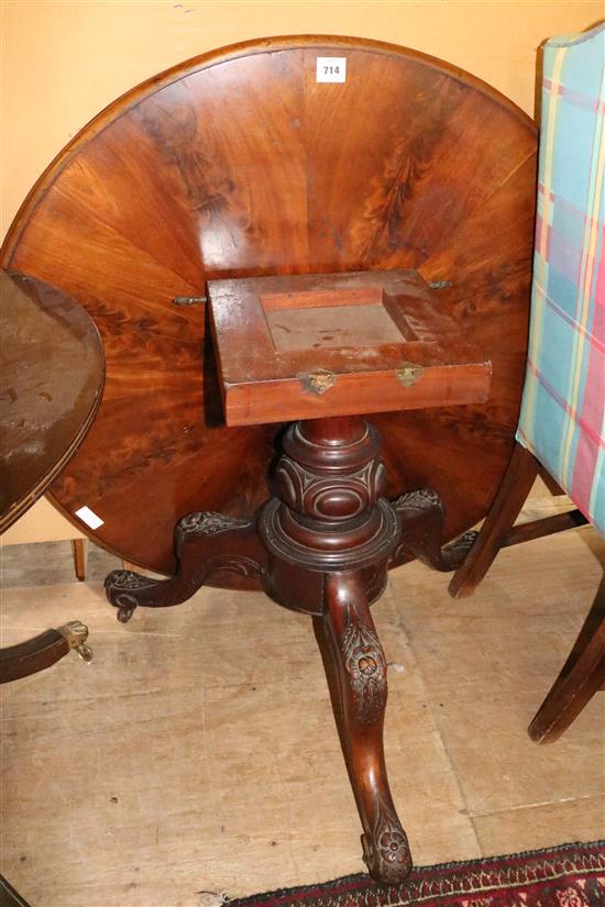
POLYGON ((473 76, 378 42, 266 38, 107 108, 2 250, 102 335, 103 400, 51 491, 173 576, 113 575, 121 617, 205 582, 312 615, 386 881, 409 854, 367 606, 414 556, 455 566, 505 471, 535 174, 535 125, 473 76))

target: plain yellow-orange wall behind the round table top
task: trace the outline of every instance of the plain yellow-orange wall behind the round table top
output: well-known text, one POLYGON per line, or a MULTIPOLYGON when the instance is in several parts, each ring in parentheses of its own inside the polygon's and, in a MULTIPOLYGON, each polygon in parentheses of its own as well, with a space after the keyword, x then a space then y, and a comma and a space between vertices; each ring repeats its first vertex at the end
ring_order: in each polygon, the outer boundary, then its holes
POLYGON ((602 0, 0 0, 2 221, 46 164, 127 89, 212 47, 319 32, 442 57, 534 112, 536 51, 603 15, 602 0))

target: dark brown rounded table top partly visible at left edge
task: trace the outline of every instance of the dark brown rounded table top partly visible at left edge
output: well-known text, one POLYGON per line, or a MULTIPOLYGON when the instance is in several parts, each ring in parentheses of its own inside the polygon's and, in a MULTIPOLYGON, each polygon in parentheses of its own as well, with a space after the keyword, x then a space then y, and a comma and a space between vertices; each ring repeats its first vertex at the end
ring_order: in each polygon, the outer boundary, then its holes
POLYGON ((48 487, 101 401, 101 339, 67 294, 0 272, 0 532, 48 487))

